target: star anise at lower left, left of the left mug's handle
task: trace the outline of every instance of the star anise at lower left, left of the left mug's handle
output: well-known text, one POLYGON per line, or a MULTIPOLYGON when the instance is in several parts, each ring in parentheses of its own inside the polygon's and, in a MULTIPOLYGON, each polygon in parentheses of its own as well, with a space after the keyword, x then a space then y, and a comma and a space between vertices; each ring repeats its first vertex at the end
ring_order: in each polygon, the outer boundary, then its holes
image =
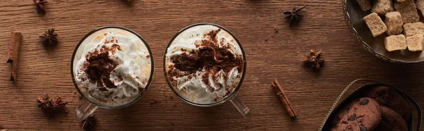
POLYGON ((45 111, 49 111, 49 113, 52 113, 56 111, 58 108, 63 108, 68 104, 68 102, 62 102, 61 96, 59 96, 56 101, 49 99, 48 94, 43 94, 41 97, 37 99, 38 107, 44 109, 45 111))

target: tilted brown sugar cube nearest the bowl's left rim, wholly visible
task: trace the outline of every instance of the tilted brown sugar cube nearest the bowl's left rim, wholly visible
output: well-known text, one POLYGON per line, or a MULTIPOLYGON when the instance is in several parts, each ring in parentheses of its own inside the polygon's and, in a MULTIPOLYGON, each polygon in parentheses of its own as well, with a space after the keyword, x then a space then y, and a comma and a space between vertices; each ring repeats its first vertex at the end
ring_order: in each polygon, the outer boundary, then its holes
POLYGON ((364 17, 365 23, 367 23, 368 28, 370 28, 372 37, 377 37, 378 35, 383 34, 387 31, 386 25, 383 23, 382 18, 380 18, 377 13, 371 13, 364 17))

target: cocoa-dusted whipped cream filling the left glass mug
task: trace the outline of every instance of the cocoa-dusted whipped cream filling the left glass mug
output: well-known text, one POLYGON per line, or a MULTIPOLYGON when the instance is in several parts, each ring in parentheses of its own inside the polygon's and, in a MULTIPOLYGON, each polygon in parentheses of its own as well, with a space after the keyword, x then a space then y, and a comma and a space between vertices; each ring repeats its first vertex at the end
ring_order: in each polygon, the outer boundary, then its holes
POLYGON ((141 39, 125 30, 104 30, 93 35, 97 36, 79 47, 81 56, 73 69, 75 81, 88 97, 110 106, 126 104, 144 92, 148 84, 148 49, 141 39))

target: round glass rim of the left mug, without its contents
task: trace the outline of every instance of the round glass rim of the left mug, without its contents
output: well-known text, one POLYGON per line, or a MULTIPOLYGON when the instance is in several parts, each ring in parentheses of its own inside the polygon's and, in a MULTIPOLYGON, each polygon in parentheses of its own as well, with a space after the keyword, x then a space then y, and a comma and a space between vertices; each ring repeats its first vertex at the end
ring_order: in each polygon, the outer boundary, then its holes
POLYGON ((143 96, 143 94, 145 94, 147 92, 147 89, 148 89, 148 87, 150 87, 152 80, 153 80, 154 67, 155 67, 155 65, 154 65, 154 61, 153 61, 153 54, 152 54, 151 48, 150 48, 150 46, 148 46, 148 43, 146 42, 146 40, 144 40, 143 37, 141 37, 141 35, 139 35, 139 33, 135 32, 134 30, 131 30, 129 28, 118 26, 118 25, 105 25, 105 26, 102 26, 102 27, 95 28, 94 30, 88 32, 88 34, 85 35, 76 45, 75 49, 73 50, 73 54, 72 54, 72 58, 71 58, 71 77, 72 77, 73 85, 75 86, 78 93, 81 94, 81 96, 83 96, 84 99, 86 99, 88 102, 90 102, 90 104, 94 104, 95 106, 99 106, 100 108, 118 109, 118 108, 124 108, 124 107, 127 107, 127 106, 131 106, 132 104, 136 103, 136 101, 139 101, 141 96, 143 96), (149 53, 150 58, 151 58, 151 67, 152 67, 151 68, 151 74, 150 74, 150 77, 148 78, 147 85, 144 88, 143 92, 140 92, 140 94, 135 99, 132 99, 128 103, 123 104, 123 105, 119 105, 119 106, 106 106, 106 105, 98 104, 94 101, 91 101, 90 99, 87 99, 86 96, 83 94, 83 92, 81 92, 81 90, 78 88, 78 85, 75 82, 75 76, 73 74, 73 61, 75 60, 76 52, 78 51, 81 44, 84 42, 84 40, 86 40, 87 37, 89 37, 93 33, 98 32, 99 30, 107 29, 107 28, 117 28, 117 29, 125 30, 127 32, 130 32, 130 33, 136 35, 139 39, 141 39, 143 44, 146 46, 146 49, 148 50, 148 53, 149 53))

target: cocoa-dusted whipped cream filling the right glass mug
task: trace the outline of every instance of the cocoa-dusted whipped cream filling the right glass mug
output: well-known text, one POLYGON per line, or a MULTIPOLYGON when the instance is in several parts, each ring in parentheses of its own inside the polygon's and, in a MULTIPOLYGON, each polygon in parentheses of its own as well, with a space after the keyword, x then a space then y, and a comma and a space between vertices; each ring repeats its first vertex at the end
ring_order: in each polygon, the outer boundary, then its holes
POLYGON ((165 68, 171 83, 181 96, 197 104, 211 104, 229 96, 240 82, 244 70, 242 51, 237 41, 229 32, 213 25, 199 25, 184 30, 171 43, 165 56, 165 68), (230 58, 225 56, 226 63, 220 63, 224 56, 215 54, 210 60, 216 61, 217 66, 199 67, 202 64, 194 61, 199 61, 199 57, 207 50, 215 51, 216 54, 225 51, 230 58), (234 65, 236 60, 240 61, 234 65), (220 65, 229 63, 233 65, 220 65), (181 65, 183 67, 178 68, 181 65))

